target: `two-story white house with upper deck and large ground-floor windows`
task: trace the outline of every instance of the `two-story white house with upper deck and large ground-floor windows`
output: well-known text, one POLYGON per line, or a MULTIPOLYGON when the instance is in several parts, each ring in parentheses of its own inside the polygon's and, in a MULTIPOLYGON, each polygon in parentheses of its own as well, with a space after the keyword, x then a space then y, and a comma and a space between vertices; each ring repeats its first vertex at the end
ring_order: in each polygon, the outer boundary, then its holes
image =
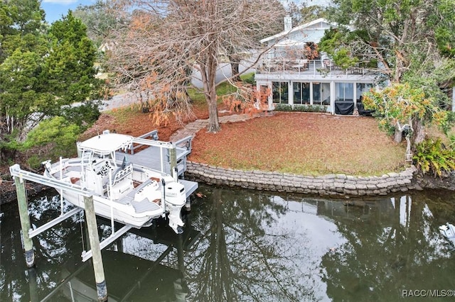
POLYGON ((277 104, 319 105, 333 114, 363 113, 361 97, 375 85, 377 73, 363 67, 341 69, 317 51, 325 30, 336 27, 324 18, 291 28, 286 17, 284 31, 260 42, 270 50, 256 68, 257 91, 268 95, 269 109, 277 104))

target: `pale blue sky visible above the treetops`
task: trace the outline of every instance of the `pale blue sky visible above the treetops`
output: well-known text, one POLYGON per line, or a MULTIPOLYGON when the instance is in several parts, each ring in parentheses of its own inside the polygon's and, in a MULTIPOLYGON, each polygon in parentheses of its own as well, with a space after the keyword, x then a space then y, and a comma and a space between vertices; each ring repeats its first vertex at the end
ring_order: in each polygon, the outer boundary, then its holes
MULTIPOLYGON (((280 0, 283 4, 289 3, 289 1, 294 1, 299 3, 301 0, 280 0)), ((329 0, 306 0, 308 4, 312 5, 324 5, 327 4, 329 0)), ((43 0, 41 2, 41 7, 45 11, 45 21, 48 23, 53 23, 65 16, 68 13, 68 10, 74 11, 79 4, 81 5, 91 5, 94 4, 95 0, 43 0)))

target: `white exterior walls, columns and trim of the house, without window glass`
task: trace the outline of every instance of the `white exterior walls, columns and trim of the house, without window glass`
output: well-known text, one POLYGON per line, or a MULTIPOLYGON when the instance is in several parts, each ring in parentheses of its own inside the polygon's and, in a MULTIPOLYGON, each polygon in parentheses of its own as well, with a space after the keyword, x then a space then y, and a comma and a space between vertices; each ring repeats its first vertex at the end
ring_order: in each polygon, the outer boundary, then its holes
MULTIPOLYGON (((358 83, 373 84, 377 74, 371 74, 362 68, 340 69, 333 65, 333 61, 326 54, 321 53, 319 60, 307 60, 304 55, 304 45, 306 43, 319 43, 323 37, 325 30, 336 27, 336 24, 329 23, 324 18, 319 18, 309 23, 289 28, 289 17, 285 18, 287 27, 282 33, 273 35, 269 38, 261 40, 272 47, 261 62, 257 65, 255 79, 257 81, 257 89, 260 86, 267 86, 272 90, 273 82, 287 83, 287 104, 294 104, 294 83, 311 83, 310 85, 310 104, 313 104, 313 84, 329 83, 330 84, 330 104, 327 106, 328 112, 336 113, 336 87, 338 83, 353 84, 352 96, 343 97, 338 103, 337 108, 345 109, 337 111, 343 114, 349 114, 352 110, 353 101, 354 108, 357 102, 357 91, 355 86, 358 83), (352 99, 351 99, 352 97, 352 99)), ((311 59, 311 58, 309 58, 311 59)), ((298 91, 297 91, 298 92, 298 91)), ((301 99, 300 95, 299 99, 301 99)), ((321 101, 326 100, 326 97, 321 101)), ((269 96, 269 108, 274 107, 273 96, 269 96)), ((306 100, 307 101, 307 100, 306 100)))

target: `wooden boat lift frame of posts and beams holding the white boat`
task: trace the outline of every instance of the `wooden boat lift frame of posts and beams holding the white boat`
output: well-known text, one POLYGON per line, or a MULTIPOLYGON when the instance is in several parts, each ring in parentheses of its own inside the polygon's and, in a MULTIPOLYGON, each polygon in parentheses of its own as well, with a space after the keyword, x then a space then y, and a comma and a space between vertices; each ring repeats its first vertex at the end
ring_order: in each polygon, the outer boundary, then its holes
MULTIPOLYGON (((151 133, 154 133, 152 131, 151 133)), ((150 134, 150 133, 148 133, 150 134)), ((156 133, 155 133, 156 134, 156 133)), ((156 135, 152 135, 153 138, 156 135)), ((183 174, 183 171, 186 169, 186 155, 191 152, 191 140, 192 137, 184 138, 183 140, 179 140, 175 144, 172 142, 160 142, 157 140, 150 140, 144 138, 144 135, 141 138, 135 138, 134 143, 140 145, 148 146, 145 150, 156 150, 158 147, 159 149, 159 162, 161 172, 164 172, 166 169, 165 162, 167 162, 167 168, 169 172, 171 172, 171 176, 174 179, 178 179, 178 177, 183 174), (184 145, 184 147, 179 147, 180 155, 177 156, 176 145, 184 145), (164 160, 164 150, 167 149, 168 151, 168 160, 164 160), (179 161, 178 161, 179 158, 179 161), (180 171, 179 171, 180 168, 180 171)), ((131 150, 133 157, 134 149, 131 150)), ((138 152, 139 153, 139 152, 138 152)), ((125 154, 126 156, 126 154, 125 154)), ((141 157, 144 159, 144 154, 141 154, 141 157)), ((147 157, 147 156, 146 156, 147 157)), ((137 160, 140 160, 140 157, 136 156, 137 160)), ((148 161, 144 161, 139 165, 143 167, 150 167, 152 168, 151 164, 151 157, 150 154, 148 156, 148 161)), ((97 232, 97 221, 95 215, 95 208, 93 205, 93 195, 95 192, 89 191, 86 188, 82 188, 77 184, 70 184, 65 181, 61 181, 58 179, 49 179, 48 177, 44 177, 41 174, 36 174, 33 172, 28 172, 26 170, 21 169, 19 164, 14 164, 9 168, 10 174, 14 177, 14 183, 16 184, 16 194, 18 198, 18 208, 19 208, 19 216, 21 219, 21 229, 22 229, 22 237, 23 237, 23 246, 25 250, 25 257, 26 257, 26 265, 28 268, 31 268, 35 265, 35 255, 33 252, 33 241, 32 237, 35 237, 38 234, 43 233, 45 230, 52 228, 54 225, 62 222, 63 220, 73 216, 75 213, 78 213, 82 210, 82 208, 74 208, 66 213, 63 213, 63 197, 60 199, 60 216, 50 220, 48 223, 41 225, 40 227, 36 228, 35 230, 31 229, 30 224, 30 217, 28 216, 28 201, 26 197, 26 186, 25 180, 33 181, 38 184, 43 184, 45 186, 50 186, 54 189, 60 191, 60 196, 62 196, 61 192, 63 191, 70 191, 75 193, 79 196, 83 196, 84 198, 84 207, 85 207, 85 220, 88 226, 88 232, 90 237, 90 247, 91 250, 83 251, 82 252, 82 261, 85 262, 87 259, 93 258, 93 269, 95 272, 95 281, 97 287, 97 296, 98 301, 106 301, 107 300, 107 287, 105 281, 105 272, 102 264, 102 257, 101 257, 101 250, 104 247, 107 247, 112 242, 117 240, 119 237, 127 233, 128 230, 132 228, 130 225, 124 225, 124 227, 120 228, 119 230, 115 231, 114 229, 114 217, 111 217, 111 225, 112 225, 112 232, 109 237, 105 240, 100 242, 100 238, 97 232)), ((196 191, 198 187, 198 183, 194 181, 186 181, 181 179, 183 185, 187 188, 186 194, 187 198, 193 191, 196 191)))

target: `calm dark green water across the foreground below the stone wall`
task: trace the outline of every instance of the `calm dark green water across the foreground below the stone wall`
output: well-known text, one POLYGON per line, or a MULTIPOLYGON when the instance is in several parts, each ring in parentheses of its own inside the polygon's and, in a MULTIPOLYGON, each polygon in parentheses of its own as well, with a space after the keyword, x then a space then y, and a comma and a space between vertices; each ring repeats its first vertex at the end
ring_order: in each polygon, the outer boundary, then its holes
MULTIPOLYGON (((109 301, 402 301, 455 290, 454 254, 438 230, 455 223, 451 192, 348 201, 198 192, 183 235, 157 225, 102 252, 109 301)), ((34 198, 32 224, 59 207, 52 191, 34 198)), ((0 301, 96 301, 82 215, 35 237, 36 268, 26 269, 17 206, 1 212, 0 301)))

